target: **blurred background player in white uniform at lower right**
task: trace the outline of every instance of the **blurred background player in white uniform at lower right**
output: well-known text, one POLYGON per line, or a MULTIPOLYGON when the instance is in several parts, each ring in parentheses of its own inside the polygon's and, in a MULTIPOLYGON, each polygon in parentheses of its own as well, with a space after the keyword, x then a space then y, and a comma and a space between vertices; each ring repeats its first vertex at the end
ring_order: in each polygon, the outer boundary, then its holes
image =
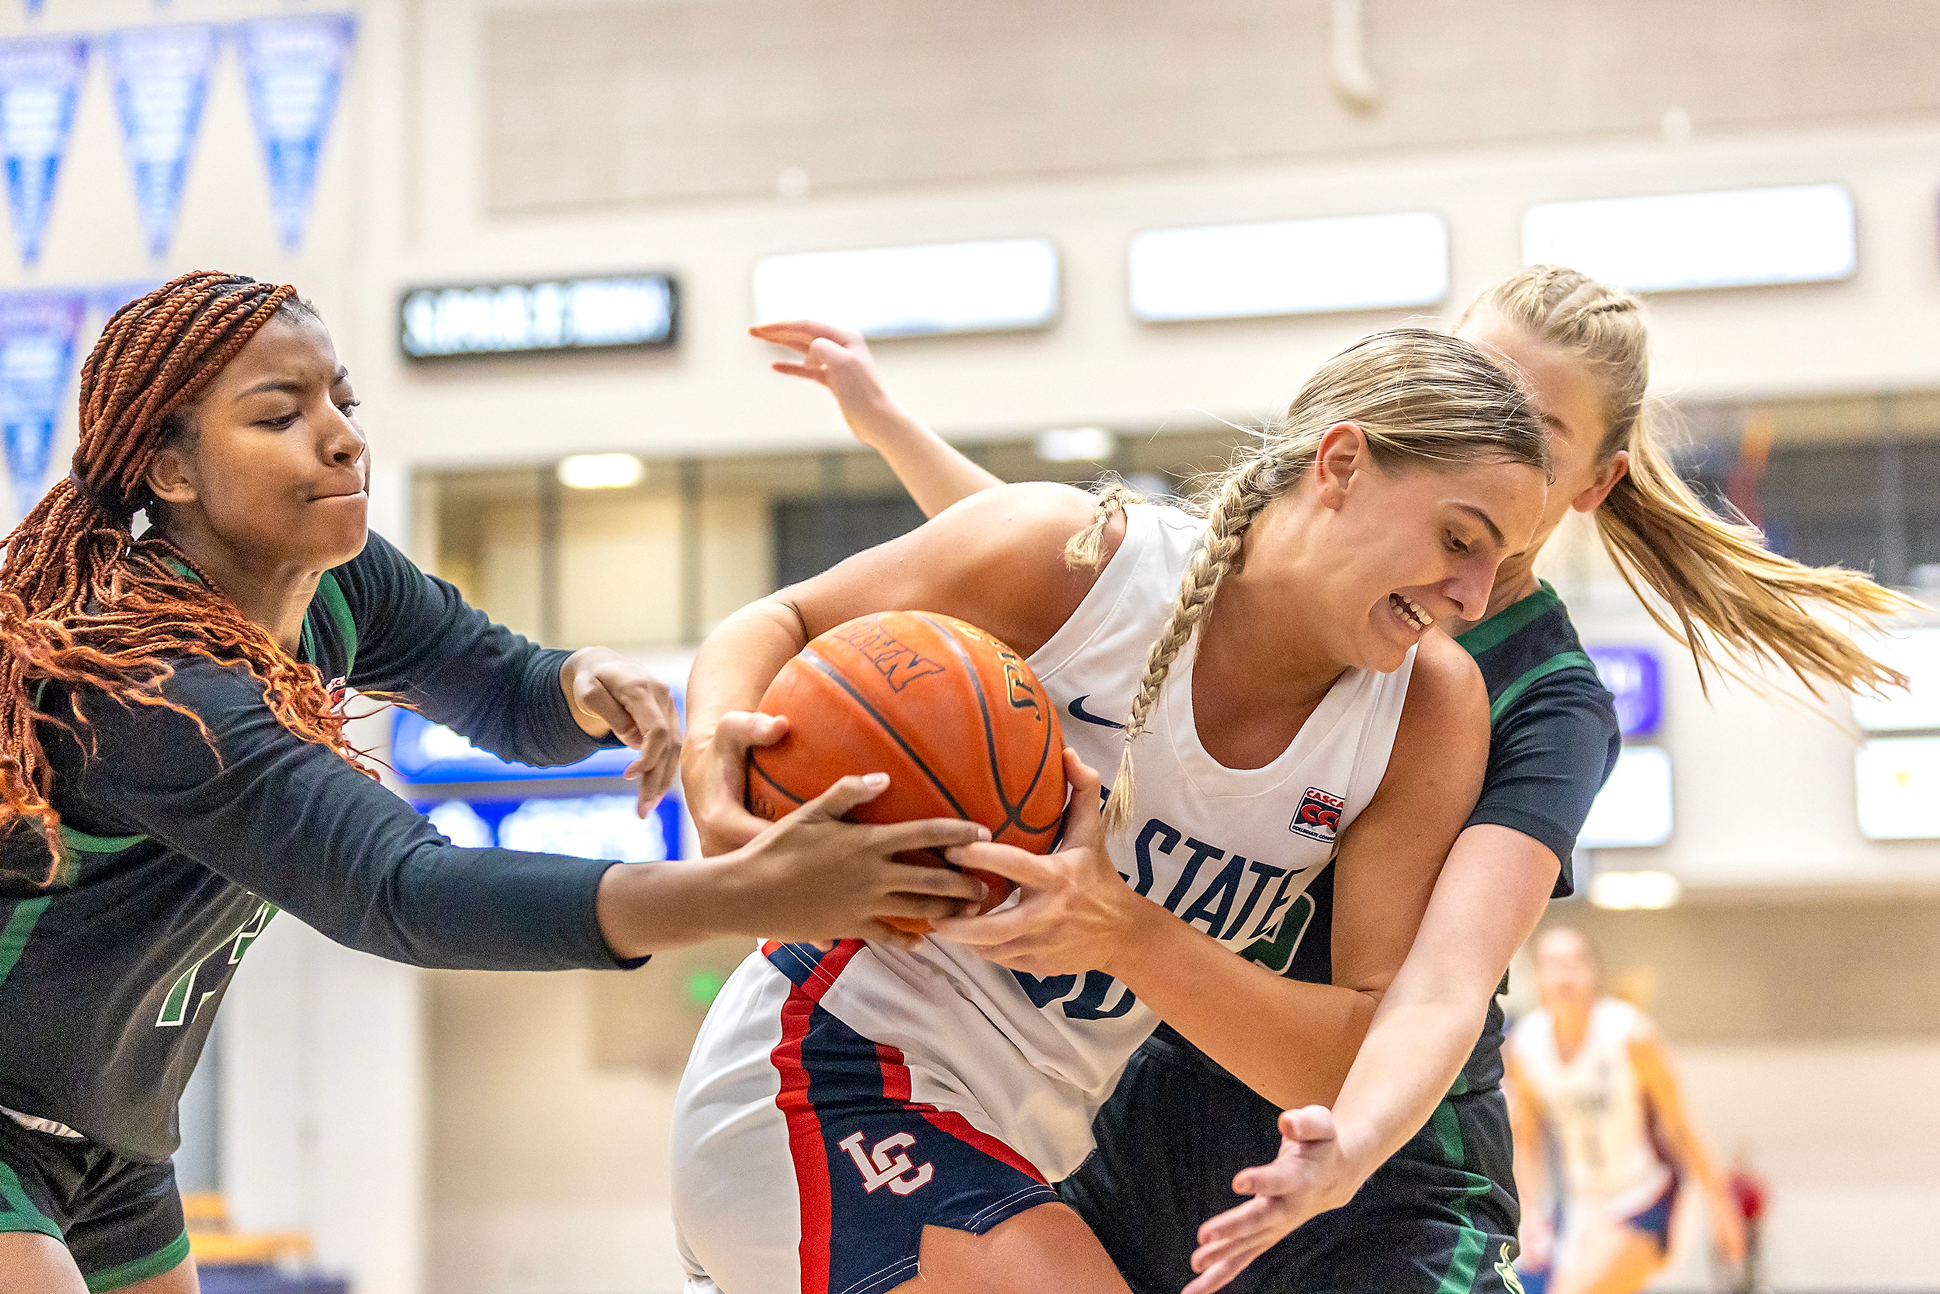
POLYGON ((1597 951, 1566 925, 1536 937, 1540 1009, 1509 1034, 1509 1119, 1523 1197, 1525 1286, 1536 1294, 1633 1294, 1668 1259, 1678 1183, 1705 1193, 1717 1247, 1744 1259, 1744 1222, 1692 1131, 1663 1034, 1604 997, 1597 951), (1548 1164, 1562 1181, 1546 1181, 1548 1164), (1560 1203, 1556 1228, 1542 1201, 1560 1203))

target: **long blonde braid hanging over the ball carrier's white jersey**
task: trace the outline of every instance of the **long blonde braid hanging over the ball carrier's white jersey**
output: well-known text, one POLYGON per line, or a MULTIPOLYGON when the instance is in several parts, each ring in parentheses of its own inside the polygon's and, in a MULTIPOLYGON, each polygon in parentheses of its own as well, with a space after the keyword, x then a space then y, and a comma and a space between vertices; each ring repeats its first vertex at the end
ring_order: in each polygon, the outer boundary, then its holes
MULTIPOLYGON (((1152 706, 1158 704, 1158 693, 1166 687, 1166 675, 1172 673, 1172 662, 1180 658, 1180 652, 1191 642, 1201 621, 1205 621, 1207 611, 1212 607, 1212 598, 1218 594, 1218 582, 1240 565, 1245 532, 1251 530, 1261 510, 1280 497, 1280 491, 1298 466, 1298 462, 1259 452, 1238 471, 1228 473, 1220 485, 1207 512, 1207 530, 1199 537, 1199 547, 1193 551, 1191 563, 1185 566, 1185 578, 1180 580, 1180 599, 1172 603, 1166 629, 1145 654, 1145 673, 1139 677, 1139 691, 1131 698, 1131 716, 1125 720, 1125 745, 1117 757, 1117 772, 1112 776, 1112 795, 1104 801, 1104 826, 1108 832, 1121 832, 1131 823, 1131 803, 1137 795, 1131 743, 1145 733, 1145 724, 1152 718, 1152 706)), ((1104 512, 1106 502, 1100 501, 1098 506, 1104 512)), ((1102 522, 1092 524, 1092 530, 1102 532, 1102 522)))

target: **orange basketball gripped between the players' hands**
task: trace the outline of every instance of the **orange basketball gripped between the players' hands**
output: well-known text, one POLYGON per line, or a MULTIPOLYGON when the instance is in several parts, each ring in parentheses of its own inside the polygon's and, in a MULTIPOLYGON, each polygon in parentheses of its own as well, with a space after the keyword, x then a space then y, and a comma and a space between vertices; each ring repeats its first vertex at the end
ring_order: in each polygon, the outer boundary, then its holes
MULTIPOLYGON (((1017 652, 927 611, 883 611, 830 629, 768 685, 788 735, 749 753, 747 807, 770 823, 852 772, 887 772, 857 823, 956 817, 991 840, 1044 854, 1065 813, 1063 729, 1017 652)), ((935 850, 898 856, 947 867, 935 850)), ((989 904, 1011 883, 978 871, 989 904)), ((910 933, 927 922, 892 922, 910 933)))

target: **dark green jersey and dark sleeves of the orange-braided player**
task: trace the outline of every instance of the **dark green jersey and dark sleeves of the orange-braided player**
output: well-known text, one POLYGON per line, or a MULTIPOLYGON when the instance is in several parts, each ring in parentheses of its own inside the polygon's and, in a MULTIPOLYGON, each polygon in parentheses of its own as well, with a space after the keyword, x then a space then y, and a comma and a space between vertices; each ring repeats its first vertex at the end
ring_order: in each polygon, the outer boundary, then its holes
MULTIPOLYGON (((543 650, 371 535, 303 625, 326 681, 400 696, 530 764, 594 749, 543 650)), ((277 910, 417 966, 613 966, 594 892, 611 863, 460 850, 380 784, 289 733, 241 667, 175 662, 196 718, 48 685, 41 712, 66 875, 47 844, 0 840, 0 1106, 130 1158, 177 1145, 175 1106, 215 1007, 277 910), (208 739, 198 731, 206 728, 208 739)))

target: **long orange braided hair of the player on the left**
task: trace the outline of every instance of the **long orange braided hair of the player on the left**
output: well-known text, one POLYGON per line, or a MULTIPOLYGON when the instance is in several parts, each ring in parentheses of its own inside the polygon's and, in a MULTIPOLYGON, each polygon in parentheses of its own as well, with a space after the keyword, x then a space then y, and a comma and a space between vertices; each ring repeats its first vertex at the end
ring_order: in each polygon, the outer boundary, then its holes
MULTIPOLYGON (((215 270, 184 274, 116 310, 81 365, 74 471, 6 537, 0 832, 21 819, 39 825, 54 859, 41 885, 64 871, 60 817, 48 803, 52 768, 35 731, 37 720, 52 718, 35 706, 41 681, 188 714, 161 695, 171 658, 241 665, 262 683, 283 728, 371 772, 343 735, 343 714, 316 667, 277 646, 159 530, 140 539, 132 530, 134 514, 151 502, 155 452, 192 435, 196 396, 264 324, 291 310, 308 312, 295 287, 215 270)), ((85 722, 78 700, 68 710, 85 722)))

